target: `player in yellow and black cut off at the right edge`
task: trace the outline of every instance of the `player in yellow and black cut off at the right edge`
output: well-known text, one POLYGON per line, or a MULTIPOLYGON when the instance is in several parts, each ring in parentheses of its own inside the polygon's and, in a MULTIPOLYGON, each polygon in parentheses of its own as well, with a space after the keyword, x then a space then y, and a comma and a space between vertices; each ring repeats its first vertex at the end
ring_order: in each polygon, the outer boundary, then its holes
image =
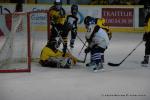
POLYGON ((147 13, 144 21, 145 33, 143 35, 143 40, 145 41, 145 56, 141 62, 142 64, 148 64, 150 56, 150 6, 145 7, 145 13, 147 13))

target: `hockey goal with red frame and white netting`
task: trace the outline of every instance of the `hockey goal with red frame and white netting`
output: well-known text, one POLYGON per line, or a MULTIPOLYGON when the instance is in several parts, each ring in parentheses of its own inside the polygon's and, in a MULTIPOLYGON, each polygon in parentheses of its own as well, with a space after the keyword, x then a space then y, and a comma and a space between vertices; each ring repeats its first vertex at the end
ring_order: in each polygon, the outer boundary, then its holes
POLYGON ((30 72, 50 34, 47 11, 0 15, 0 72, 30 72))

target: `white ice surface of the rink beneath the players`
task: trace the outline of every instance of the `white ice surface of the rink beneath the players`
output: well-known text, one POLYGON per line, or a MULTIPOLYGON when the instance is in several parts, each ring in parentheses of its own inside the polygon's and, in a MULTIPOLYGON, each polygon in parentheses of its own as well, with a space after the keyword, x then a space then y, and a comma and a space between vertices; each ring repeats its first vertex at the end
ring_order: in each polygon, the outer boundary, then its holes
MULTIPOLYGON (((84 33, 78 36, 84 40, 84 33)), ((105 52, 104 72, 94 73, 78 63, 72 69, 41 67, 32 63, 31 73, 0 73, 0 100, 150 100, 150 67, 142 67, 144 43, 120 66, 142 40, 142 33, 113 33, 105 52)), ((73 54, 79 56, 77 38, 73 54)), ((88 62, 90 56, 87 56, 88 62)))

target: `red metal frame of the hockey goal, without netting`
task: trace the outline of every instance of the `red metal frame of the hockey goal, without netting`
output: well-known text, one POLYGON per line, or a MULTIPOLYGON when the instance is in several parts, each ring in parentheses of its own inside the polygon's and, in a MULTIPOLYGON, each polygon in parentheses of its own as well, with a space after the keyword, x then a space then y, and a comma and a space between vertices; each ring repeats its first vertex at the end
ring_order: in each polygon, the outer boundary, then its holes
POLYGON ((47 13, 47 37, 48 37, 48 39, 50 38, 50 36, 51 36, 50 17, 49 17, 50 14, 49 14, 48 10, 22 13, 22 14, 27 14, 27 68, 25 68, 25 69, 0 69, 0 73, 31 72, 32 56, 31 56, 30 14, 33 14, 33 13, 47 13))

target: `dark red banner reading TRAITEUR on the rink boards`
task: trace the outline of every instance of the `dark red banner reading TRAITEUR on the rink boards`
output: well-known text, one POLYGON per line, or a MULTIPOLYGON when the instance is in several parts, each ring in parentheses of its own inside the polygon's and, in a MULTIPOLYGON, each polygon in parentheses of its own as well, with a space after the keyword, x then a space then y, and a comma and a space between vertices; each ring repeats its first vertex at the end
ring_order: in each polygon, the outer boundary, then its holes
POLYGON ((133 27, 133 8, 102 8, 106 24, 117 27, 133 27))

